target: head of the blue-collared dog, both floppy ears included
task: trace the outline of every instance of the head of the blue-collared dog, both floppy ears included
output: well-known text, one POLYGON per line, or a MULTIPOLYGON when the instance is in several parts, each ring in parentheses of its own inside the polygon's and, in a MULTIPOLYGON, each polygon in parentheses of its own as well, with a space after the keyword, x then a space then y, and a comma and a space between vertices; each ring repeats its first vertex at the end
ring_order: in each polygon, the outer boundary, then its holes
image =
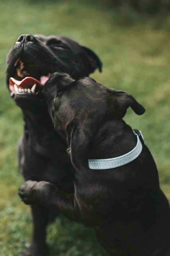
POLYGON ((74 80, 68 74, 54 73, 44 86, 45 98, 55 129, 70 146, 72 164, 86 168, 92 136, 109 119, 121 119, 127 108, 145 112, 130 94, 98 84, 92 78, 74 80))

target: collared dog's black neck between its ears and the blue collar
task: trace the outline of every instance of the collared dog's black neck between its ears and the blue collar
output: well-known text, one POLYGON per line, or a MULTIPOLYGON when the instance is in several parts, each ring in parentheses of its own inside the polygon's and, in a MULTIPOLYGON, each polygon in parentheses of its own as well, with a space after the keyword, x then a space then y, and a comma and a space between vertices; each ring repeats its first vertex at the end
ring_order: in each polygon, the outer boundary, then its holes
POLYGON ((92 138, 88 159, 115 158, 127 154, 137 144, 132 128, 123 120, 109 120, 92 138))

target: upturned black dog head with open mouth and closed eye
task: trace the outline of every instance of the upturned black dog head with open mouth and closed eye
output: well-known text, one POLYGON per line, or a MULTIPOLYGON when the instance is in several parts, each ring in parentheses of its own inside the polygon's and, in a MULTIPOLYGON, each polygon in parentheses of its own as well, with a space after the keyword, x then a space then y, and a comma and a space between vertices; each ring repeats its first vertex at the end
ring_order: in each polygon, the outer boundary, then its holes
POLYGON ((73 78, 102 70, 98 56, 64 36, 21 35, 7 56, 6 83, 16 104, 33 109, 45 104, 43 85, 55 71, 73 78))

